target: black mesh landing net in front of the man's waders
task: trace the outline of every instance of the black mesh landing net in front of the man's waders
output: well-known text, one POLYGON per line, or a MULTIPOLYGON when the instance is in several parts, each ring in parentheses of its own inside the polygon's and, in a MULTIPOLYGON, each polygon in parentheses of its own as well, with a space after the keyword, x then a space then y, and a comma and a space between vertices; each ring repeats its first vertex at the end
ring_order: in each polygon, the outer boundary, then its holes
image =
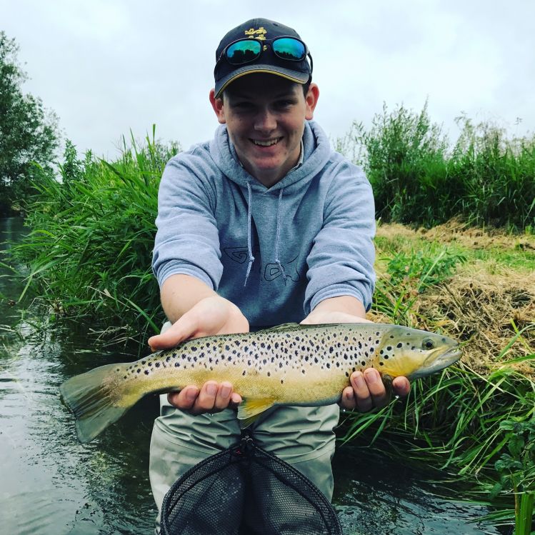
POLYGON ((239 445, 193 466, 161 507, 162 535, 337 535, 324 494, 244 434, 239 445))

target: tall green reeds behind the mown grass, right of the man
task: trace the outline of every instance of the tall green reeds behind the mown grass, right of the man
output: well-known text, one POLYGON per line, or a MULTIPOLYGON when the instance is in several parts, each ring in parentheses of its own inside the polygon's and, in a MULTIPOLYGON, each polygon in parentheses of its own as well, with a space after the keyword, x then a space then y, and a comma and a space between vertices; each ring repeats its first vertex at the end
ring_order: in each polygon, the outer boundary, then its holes
POLYGON ((364 166, 383 221, 434 224, 462 216, 470 224, 535 227, 535 137, 509 139, 489 122, 459 118, 451 144, 427 113, 404 106, 354 123, 337 148, 364 166))

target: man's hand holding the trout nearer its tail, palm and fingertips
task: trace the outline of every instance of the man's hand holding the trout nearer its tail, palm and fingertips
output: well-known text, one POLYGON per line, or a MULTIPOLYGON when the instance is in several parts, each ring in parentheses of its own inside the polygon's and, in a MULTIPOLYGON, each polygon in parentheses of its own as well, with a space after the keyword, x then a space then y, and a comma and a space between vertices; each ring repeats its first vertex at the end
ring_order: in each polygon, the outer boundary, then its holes
MULTIPOLYGON (((152 351, 169 349, 181 341, 212 334, 249 332, 249 322, 239 308, 221 296, 201 299, 163 334, 151 336, 149 346, 152 351)), ((229 382, 218 384, 206 381, 199 389, 186 386, 180 392, 167 395, 169 403, 177 409, 191 414, 219 412, 227 407, 235 408, 241 403, 241 396, 232 390, 229 382)))

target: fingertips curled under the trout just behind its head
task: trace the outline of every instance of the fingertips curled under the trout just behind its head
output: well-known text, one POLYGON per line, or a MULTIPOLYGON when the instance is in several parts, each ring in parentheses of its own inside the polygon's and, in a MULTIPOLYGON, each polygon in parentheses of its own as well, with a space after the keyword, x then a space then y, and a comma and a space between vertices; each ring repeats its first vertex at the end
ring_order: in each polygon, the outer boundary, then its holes
MULTIPOLYGON (((346 387, 342 392, 341 406, 344 409, 368 412, 374 408, 380 409, 389 403, 389 394, 376 369, 366 369, 364 374, 361 371, 355 371, 351 374, 350 381, 351 386, 346 387)), ((409 381, 406 382, 409 383, 409 381)))

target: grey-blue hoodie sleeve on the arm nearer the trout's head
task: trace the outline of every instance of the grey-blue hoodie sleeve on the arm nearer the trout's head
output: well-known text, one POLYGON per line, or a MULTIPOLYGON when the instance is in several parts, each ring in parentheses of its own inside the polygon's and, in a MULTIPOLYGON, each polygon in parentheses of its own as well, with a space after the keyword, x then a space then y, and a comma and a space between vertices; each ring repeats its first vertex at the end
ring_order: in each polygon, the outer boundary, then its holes
POLYGON ((359 299, 366 311, 371 306, 375 286, 374 196, 359 167, 344 161, 337 168, 325 199, 324 223, 307 259, 305 314, 320 301, 343 295, 359 299))

